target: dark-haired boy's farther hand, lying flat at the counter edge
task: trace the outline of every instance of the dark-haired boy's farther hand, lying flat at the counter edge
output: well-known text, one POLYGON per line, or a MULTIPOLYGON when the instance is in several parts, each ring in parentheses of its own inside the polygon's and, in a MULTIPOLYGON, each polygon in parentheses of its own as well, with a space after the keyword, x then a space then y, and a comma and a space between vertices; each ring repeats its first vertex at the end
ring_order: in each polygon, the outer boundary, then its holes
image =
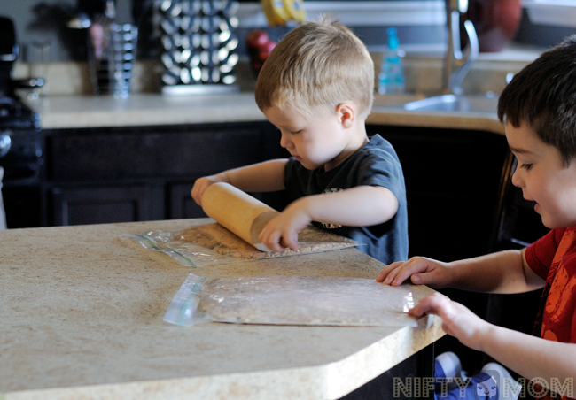
POLYGON ((444 288, 450 283, 449 264, 431 258, 413 257, 408 261, 396 261, 387 265, 378 274, 376 281, 398 286, 408 278, 416 285, 444 288))

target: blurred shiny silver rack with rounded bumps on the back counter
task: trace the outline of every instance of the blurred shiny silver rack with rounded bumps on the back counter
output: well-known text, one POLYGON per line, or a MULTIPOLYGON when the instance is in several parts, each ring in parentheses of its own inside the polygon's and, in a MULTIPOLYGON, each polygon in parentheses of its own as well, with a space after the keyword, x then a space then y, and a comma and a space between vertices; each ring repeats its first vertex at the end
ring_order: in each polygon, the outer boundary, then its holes
POLYGON ((236 0, 162 0, 161 42, 164 94, 237 90, 234 66, 238 39, 236 0))

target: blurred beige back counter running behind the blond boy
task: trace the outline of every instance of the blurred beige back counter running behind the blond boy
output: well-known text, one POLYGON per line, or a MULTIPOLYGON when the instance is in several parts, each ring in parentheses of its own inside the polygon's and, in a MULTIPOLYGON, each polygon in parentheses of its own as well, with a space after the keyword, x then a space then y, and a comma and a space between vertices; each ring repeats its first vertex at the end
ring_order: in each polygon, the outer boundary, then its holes
MULTIPOLYGON (((375 97, 367 123, 404 127, 485 130, 503 135, 494 112, 405 111, 401 104, 416 95, 375 97)), ((137 127, 265 120, 253 93, 213 96, 46 96, 27 102, 42 114, 43 129, 137 127)))

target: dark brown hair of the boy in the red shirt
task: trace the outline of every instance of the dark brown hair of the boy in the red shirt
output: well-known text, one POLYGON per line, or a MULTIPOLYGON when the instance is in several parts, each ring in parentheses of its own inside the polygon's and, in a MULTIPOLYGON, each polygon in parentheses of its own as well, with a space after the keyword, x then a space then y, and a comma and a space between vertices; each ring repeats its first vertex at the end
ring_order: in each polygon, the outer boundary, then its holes
POLYGON ((517 73, 498 100, 498 119, 532 127, 557 148, 564 165, 576 157, 576 35, 517 73))

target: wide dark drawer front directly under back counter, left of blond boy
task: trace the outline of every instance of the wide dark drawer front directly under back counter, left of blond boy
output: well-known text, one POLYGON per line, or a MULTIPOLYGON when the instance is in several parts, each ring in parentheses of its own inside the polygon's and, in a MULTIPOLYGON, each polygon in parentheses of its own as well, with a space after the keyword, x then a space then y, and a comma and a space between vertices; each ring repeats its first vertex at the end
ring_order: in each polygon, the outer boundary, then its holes
POLYGON ((272 137, 265 133, 242 124, 59 132, 47 141, 49 178, 71 182, 202 176, 267 159, 272 137))

